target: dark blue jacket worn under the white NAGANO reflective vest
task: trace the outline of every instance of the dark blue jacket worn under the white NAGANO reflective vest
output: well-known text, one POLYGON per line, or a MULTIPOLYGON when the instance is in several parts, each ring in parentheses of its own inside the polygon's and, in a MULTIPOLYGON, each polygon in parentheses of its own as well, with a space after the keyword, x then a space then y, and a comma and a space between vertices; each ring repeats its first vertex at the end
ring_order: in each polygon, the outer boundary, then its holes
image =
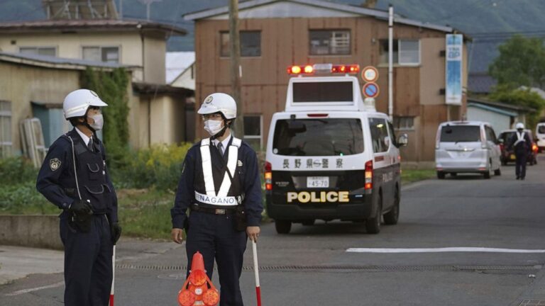
MULTIPOLYGON (((229 147, 232 145, 233 137, 226 147, 226 157, 229 147)), ((195 191, 203 193, 204 174, 202 171, 201 142, 194 144, 188 151, 182 166, 182 177, 178 184, 174 208, 170 211, 172 215, 173 228, 187 227, 187 208, 192 203, 197 203, 195 191)), ((212 174, 214 176, 214 188, 216 193, 219 191, 221 181, 224 179, 225 163, 221 161, 221 155, 214 145, 209 146, 212 164, 212 174)), ((259 226, 261 221, 261 212, 263 212, 263 203, 261 195, 261 181, 258 170, 258 158, 255 151, 246 143, 242 142, 238 148, 238 162, 233 174, 233 182, 228 196, 241 196, 242 204, 246 211, 246 221, 248 226, 259 226), (236 194, 241 193, 241 194, 236 194)), ((206 204, 198 203, 201 206, 206 204)), ((219 208, 226 208, 225 206, 219 208)))

